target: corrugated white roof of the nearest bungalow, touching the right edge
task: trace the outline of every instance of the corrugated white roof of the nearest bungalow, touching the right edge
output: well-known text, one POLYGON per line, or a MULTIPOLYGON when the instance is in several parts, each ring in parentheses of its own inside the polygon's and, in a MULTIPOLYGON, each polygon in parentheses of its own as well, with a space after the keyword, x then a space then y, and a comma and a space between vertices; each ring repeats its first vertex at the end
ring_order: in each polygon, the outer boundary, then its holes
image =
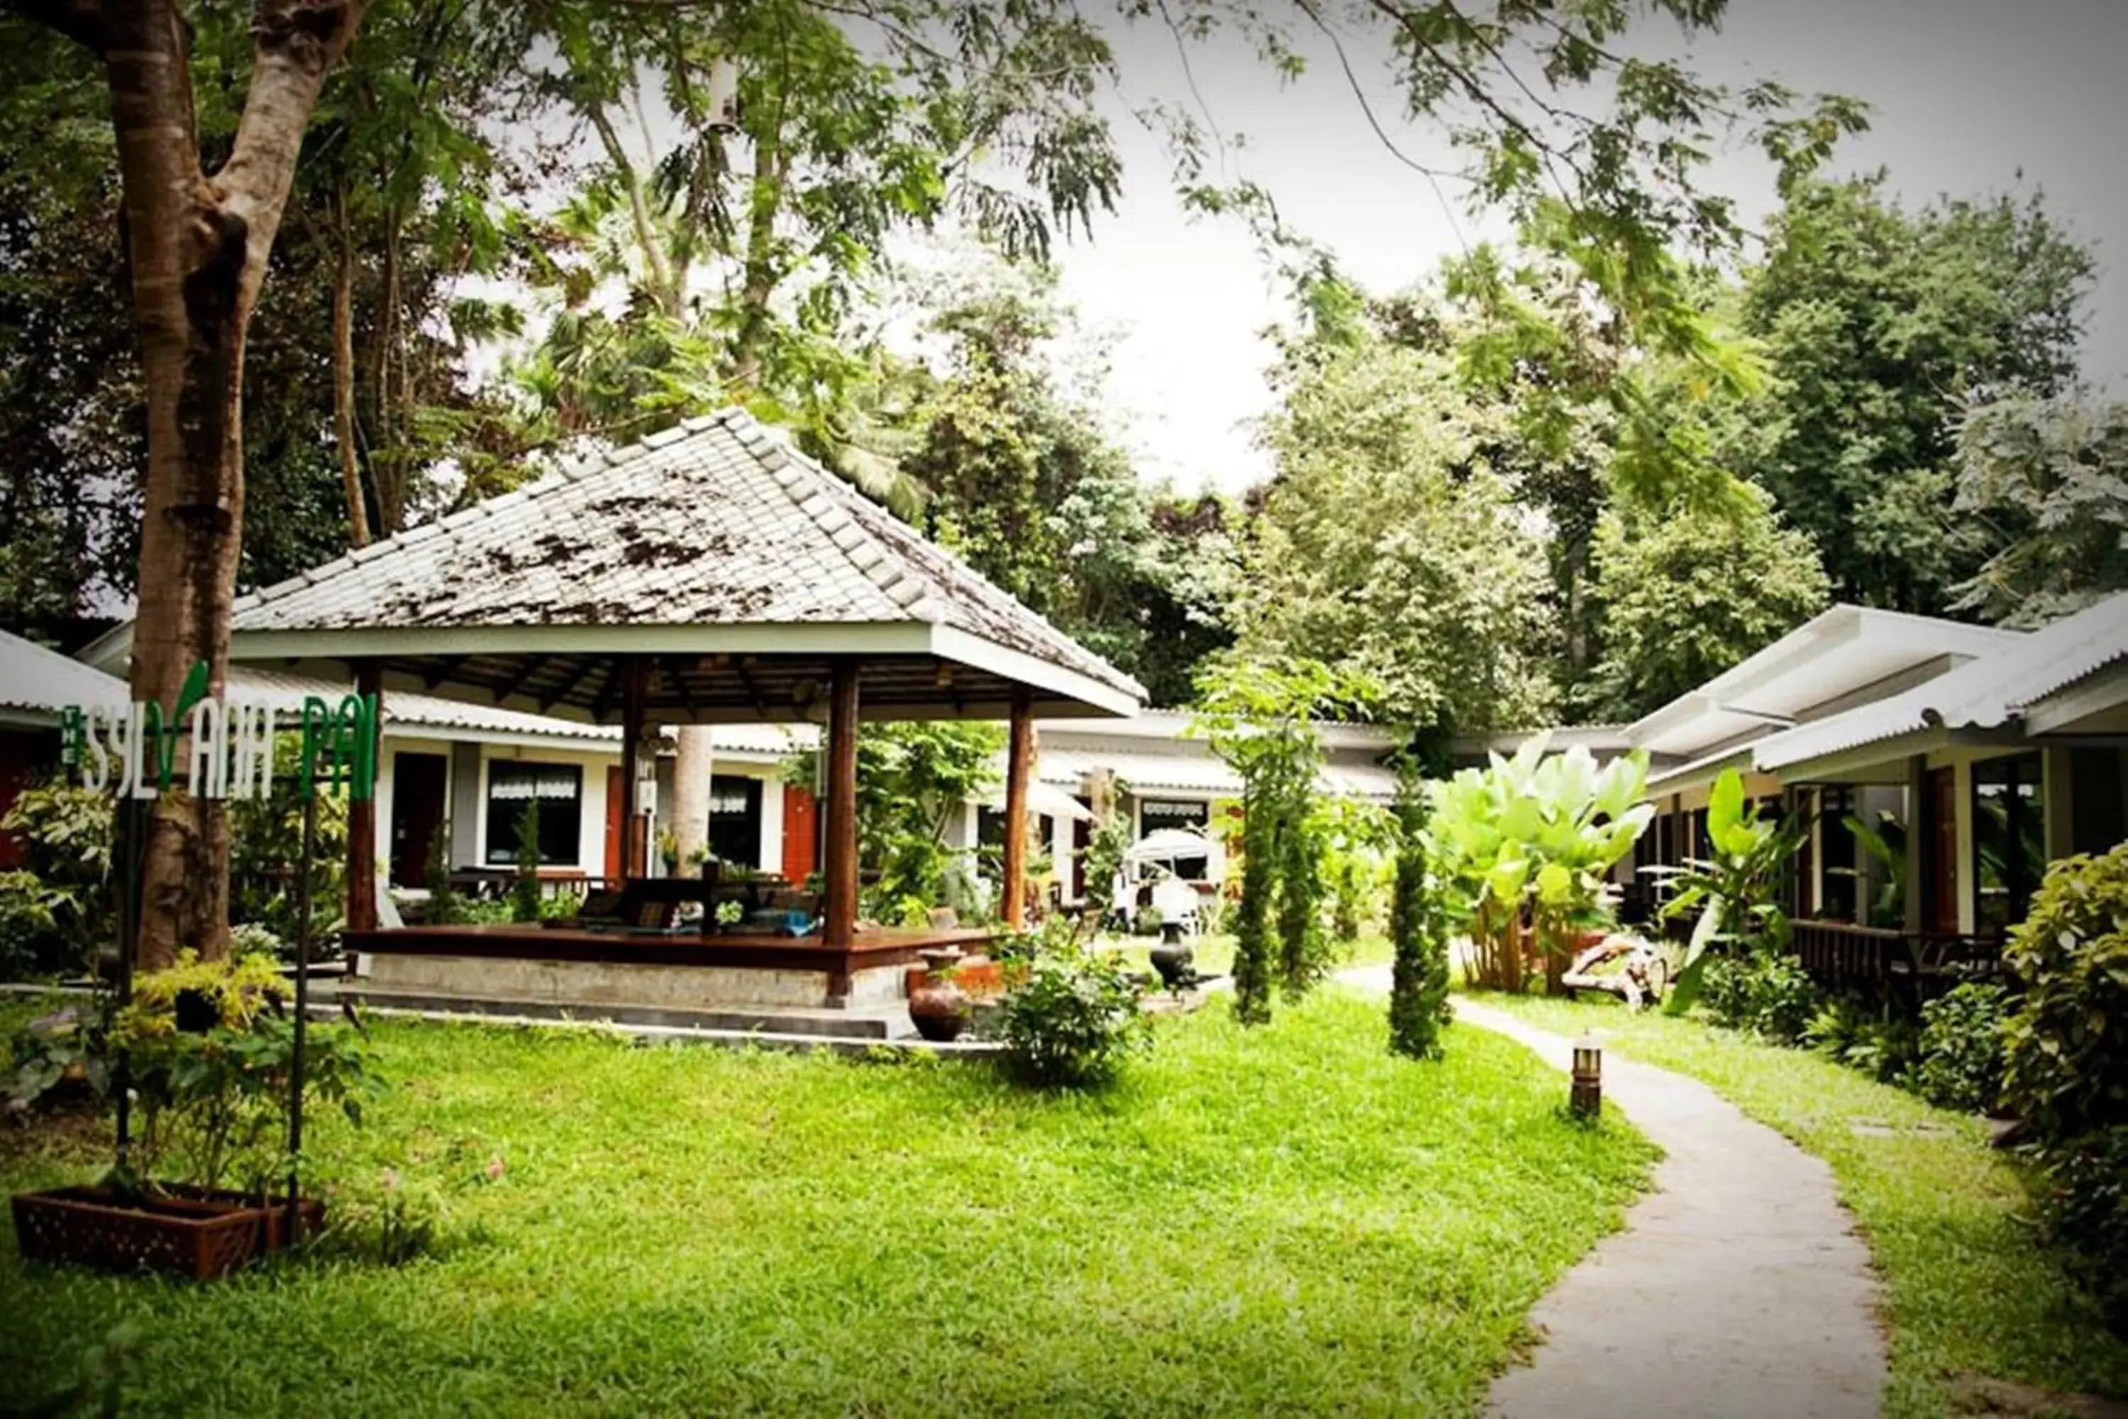
POLYGON ((2079 681, 2128 660, 2128 594, 2030 632, 1905 694, 1783 730, 1753 747, 1788 768, 1919 730, 1998 730, 2079 681))

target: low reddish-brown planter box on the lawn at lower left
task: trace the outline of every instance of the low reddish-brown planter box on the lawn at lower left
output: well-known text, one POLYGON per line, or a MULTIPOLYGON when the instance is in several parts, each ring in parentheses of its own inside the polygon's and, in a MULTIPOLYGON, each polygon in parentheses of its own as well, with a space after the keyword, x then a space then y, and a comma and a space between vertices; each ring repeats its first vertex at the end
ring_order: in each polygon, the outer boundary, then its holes
MULTIPOLYGON (((232 1191, 172 1185, 140 1204, 104 1187, 17 1193, 15 1245, 26 1262, 113 1272, 170 1272, 209 1281, 287 1245, 287 1206, 260 1208, 232 1191)), ((304 1198, 300 1230, 315 1234, 323 1202, 304 1198)))

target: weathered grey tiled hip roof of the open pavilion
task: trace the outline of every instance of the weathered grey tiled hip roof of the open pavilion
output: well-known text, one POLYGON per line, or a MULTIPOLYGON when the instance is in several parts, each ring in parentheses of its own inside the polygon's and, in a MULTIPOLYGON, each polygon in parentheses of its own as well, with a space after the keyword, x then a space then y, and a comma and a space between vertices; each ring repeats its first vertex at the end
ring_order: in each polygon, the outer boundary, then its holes
POLYGON ((236 604, 255 632, 926 621, 1138 685, 743 411, 575 460, 236 604))

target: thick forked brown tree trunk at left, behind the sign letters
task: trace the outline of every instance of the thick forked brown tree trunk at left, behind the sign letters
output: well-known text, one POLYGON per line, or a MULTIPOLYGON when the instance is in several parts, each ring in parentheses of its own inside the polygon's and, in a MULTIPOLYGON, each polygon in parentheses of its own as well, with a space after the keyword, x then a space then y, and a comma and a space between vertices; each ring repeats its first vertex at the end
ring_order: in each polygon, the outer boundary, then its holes
MULTIPOLYGON (((200 170, 179 6, 77 4, 62 26, 104 55, 111 83, 149 425, 132 691, 166 711, 200 660, 211 694, 221 694, 245 515, 245 330, 304 128, 364 2, 257 4, 251 91, 213 177, 200 170)), ((140 868, 143 966, 164 966, 183 947, 228 949, 228 870, 219 802, 155 802, 140 868)))

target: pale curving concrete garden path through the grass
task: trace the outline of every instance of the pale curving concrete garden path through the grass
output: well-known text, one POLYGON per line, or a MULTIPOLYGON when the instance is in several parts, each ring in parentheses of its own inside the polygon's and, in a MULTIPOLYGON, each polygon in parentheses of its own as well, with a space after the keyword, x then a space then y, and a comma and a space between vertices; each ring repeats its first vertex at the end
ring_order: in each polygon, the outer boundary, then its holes
MULTIPOLYGON (((1390 985, 1387 968, 1345 979, 1390 985)), ((1456 1017, 1568 1068, 1564 1036, 1468 1000, 1456 1017)), ((1494 1381, 1487 1413, 1877 1415, 1877 1283, 1832 1170, 1696 1079, 1611 1057, 1602 1083, 1664 1149, 1656 1189, 1536 1304, 1543 1342, 1494 1381)))

